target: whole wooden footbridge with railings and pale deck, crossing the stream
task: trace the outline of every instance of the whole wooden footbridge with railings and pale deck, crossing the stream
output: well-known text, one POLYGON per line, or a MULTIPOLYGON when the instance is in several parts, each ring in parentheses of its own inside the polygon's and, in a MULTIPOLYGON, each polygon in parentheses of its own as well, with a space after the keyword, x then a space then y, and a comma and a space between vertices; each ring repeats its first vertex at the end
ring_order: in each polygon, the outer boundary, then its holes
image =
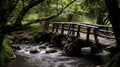
POLYGON ((80 22, 53 22, 45 25, 46 31, 53 33, 68 34, 84 38, 86 41, 101 43, 102 46, 111 47, 115 45, 112 27, 98 24, 80 22))

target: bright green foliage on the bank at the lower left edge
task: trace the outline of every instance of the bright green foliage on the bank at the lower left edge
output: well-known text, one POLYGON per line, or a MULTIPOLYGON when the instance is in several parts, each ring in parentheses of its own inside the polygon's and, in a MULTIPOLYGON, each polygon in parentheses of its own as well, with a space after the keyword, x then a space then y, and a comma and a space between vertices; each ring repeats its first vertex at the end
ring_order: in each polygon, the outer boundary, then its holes
POLYGON ((4 66, 13 55, 13 50, 10 47, 10 39, 6 35, 3 41, 2 50, 0 51, 0 67, 4 66))

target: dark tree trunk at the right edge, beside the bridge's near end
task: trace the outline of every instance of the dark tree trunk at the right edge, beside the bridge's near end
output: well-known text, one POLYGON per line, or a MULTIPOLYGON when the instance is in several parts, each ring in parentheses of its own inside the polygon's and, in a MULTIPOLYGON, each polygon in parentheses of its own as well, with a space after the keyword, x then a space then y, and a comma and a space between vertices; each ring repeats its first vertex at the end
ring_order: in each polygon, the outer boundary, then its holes
POLYGON ((113 27, 118 51, 120 52, 120 9, 117 0, 105 0, 109 12, 109 20, 113 27))

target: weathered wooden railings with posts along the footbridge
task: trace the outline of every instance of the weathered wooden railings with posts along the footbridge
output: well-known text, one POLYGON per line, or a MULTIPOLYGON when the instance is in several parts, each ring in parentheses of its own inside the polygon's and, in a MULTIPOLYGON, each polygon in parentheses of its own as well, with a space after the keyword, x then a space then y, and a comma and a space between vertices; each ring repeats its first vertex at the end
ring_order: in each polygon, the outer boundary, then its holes
POLYGON ((75 22, 53 22, 46 26, 46 30, 59 32, 61 34, 74 35, 80 37, 80 33, 86 33, 86 41, 89 41, 90 34, 94 35, 94 40, 98 43, 98 37, 114 39, 111 27, 98 24, 75 23, 75 22))

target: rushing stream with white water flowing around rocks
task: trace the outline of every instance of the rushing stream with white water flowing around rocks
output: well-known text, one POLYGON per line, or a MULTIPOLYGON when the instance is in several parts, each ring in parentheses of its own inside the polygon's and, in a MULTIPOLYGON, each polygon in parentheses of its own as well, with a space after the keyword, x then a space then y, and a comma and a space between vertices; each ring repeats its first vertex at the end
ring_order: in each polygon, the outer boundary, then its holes
MULTIPOLYGON (((20 45, 20 44, 17 44, 20 45)), ((40 49, 38 45, 22 44, 21 50, 16 50, 16 59, 7 67, 98 67, 99 65, 91 57, 68 57, 57 49, 54 53, 45 53, 46 49, 40 49), (30 48, 38 48, 39 53, 30 53, 30 48)))

